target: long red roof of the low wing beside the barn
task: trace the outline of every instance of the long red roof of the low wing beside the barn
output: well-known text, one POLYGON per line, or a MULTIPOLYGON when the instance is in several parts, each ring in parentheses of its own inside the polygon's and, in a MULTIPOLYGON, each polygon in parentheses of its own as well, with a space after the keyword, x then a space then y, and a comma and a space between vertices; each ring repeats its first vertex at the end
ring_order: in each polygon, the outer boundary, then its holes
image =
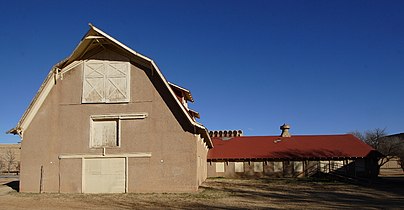
POLYGON ((331 159, 366 157, 375 151, 351 134, 312 136, 239 136, 212 138, 208 160, 331 159))

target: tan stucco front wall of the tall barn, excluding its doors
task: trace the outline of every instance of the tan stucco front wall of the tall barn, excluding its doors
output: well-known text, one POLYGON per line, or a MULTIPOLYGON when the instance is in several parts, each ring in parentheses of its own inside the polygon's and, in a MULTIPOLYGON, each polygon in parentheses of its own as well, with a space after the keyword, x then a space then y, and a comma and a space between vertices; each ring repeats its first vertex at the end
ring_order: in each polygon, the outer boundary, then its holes
MULTIPOLYGON (((93 56, 109 58, 127 60, 111 51, 93 56)), ((122 120, 120 147, 106 148, 106 154, 151 153, 151 157, 128 158, 128 192, 197 190, 206 179, 207 149, 199 136, 184 130, 180 110, 167 92, 156 90, 162 86, 157 75, 132 64, 129 103, 81 104, 82 73, 79 65, 64 74, 24 131, 20 190, 39 192, 43 166, 43 191, 81 192, 82 160, 59 159, 59 155, 102 154, 102 149, 89 148, 90 116, 137 112, 148 117, 122 120), (201 166, 198 156, 203 159, 201 166)))

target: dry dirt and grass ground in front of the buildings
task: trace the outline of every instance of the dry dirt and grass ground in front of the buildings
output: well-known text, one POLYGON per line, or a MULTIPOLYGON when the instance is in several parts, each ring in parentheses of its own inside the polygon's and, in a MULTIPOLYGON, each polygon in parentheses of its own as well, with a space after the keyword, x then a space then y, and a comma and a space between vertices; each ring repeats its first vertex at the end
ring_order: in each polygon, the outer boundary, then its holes
POLYGON ((404 176, 347 184, 313 179, 208 179, 195 193, 18 193, 0 178, 0 209, 404 209, 404 176))

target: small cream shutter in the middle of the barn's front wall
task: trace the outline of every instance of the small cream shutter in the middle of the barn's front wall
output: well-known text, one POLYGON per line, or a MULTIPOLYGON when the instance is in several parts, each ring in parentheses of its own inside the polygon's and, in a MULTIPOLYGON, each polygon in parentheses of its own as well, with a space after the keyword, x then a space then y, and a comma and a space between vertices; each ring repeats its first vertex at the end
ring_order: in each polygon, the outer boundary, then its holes
POLYGON ((119 120, 92 120, 91 122, 91 148, 118 147, 119 146, 119 120))

